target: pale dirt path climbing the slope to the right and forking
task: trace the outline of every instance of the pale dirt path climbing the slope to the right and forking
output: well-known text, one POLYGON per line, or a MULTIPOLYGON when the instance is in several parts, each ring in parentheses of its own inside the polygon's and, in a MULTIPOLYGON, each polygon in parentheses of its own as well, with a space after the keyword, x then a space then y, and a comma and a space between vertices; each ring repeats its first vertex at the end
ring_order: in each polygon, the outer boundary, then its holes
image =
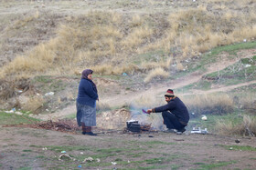
MULTIPOLYGON (((127 95, 115 95, 112 97, 101 97, 101 102, 108 104, 110 106, 120 106, 124 104, 131 104, 136 99, 139 99, 143 96, 148 95, 161 95, 165 93, 165 90, 167 88, 180 88, 185 85, 190 85, 193 83, 196 83, 201 79, 203 75, 208 75, 213 72, 217 72, 219 70, 222 70, 229 65, 233 65, 236 62, 238 62, 241 58, 247 58, 251 57, 256 53, 256 49, 249 49, 249 50, 242 50, 240 53, 238 53, 238 57, 234 59, 229 59, 227 56, 228 54, 222 54, 220 55, 219 60, 212 65, 208 66, 208 71, 204 74, 198 74, 198 73, 191 73, 190 75, 184 76, 182 78, 176 79, 174 81, 168 82, 165 85, 155 85, 152 86, 150 89, 140 91, 140 92, 131 92, 127 95)), ((195 90, 194 94, 210 94, 215 92, 227 92, 229 90, 232 90, 234 88, 244 86, 244 85, 251 85, 255 84, 256 81, 251 81, 247 83, 241 83, 238 85, 229 85, 229 86, 221 86, 219 88, 210 89, 208 91, 200 91, 195 90)), ((182 95, 191 95, 191 94, 182 94, 182 95)), ((56 112, 54 114, 48 114, 48 115, 37 115, 37 118, 40 118, 42 120, 48 120, 48 119, 55 119, 55 118, 63 118, 66 115, 71 115, 76 113, 76 106, 75 105, 69 105, 68 107, 64 108, 63 110, 60 110, 59 112, 56 112)))

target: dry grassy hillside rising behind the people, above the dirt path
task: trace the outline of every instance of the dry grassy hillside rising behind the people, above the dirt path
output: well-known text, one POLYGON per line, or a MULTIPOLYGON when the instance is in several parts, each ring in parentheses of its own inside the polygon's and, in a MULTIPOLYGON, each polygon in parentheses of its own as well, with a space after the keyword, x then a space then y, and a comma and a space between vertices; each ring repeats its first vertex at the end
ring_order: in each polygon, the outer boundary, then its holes
MULTIPOLYGON (((165 88, 221 61, 225 54, 207 61, 210 49, 253 42, 256 36, 255 3, 249 0, 3 1, 0 7, 2 104, 32 112, 37 106, 24 103, 40 106, 48 100, 40 95, 50 91, 62 95, 51 103, 72 103, 84 68, 94 70, 103 98, 165 88)), ((255 48, 254 43, 240 46, 255 48)))

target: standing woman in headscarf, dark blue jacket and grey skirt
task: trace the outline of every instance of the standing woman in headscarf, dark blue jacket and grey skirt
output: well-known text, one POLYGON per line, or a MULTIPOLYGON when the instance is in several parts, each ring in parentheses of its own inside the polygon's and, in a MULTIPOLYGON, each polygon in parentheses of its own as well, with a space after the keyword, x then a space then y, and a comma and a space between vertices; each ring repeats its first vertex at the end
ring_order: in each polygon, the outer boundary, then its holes
POLYGON ((96 125, 96 100, 99 100, 97 87, 92 82, 91 69, 82 71, 77 98, 77 121, 83 135, 96 135, 91 126, 96 125))

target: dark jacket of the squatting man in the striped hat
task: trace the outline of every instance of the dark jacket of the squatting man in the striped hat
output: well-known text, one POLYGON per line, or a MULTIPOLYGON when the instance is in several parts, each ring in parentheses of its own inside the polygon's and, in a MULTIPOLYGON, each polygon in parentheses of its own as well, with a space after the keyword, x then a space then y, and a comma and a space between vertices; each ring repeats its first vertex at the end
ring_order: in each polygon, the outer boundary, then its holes
POLYGON ((164 111, 170 111, 173 115, 176 115, 181 124, 187 125, 189 121, 187 106, 184 105, 184 103, 178 97, 171 99, 167 105, 155 107, 153 109, 153 112, 164 111))

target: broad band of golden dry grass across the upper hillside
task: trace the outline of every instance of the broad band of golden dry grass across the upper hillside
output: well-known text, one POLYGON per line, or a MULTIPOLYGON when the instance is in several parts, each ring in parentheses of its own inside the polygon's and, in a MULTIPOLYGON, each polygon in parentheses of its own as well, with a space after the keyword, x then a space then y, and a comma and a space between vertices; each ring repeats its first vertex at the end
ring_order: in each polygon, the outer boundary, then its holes
MULTIPOLYGON (((73 74, 74 68, 84 67, 93 67, 105 75, 120 74, 131 67, 126 65, 133 65, 135 56, 159 49, 168 54, 176 48, 176 61, 182 63, 213 47, 256 38, 255 10, 248 7, 250 3, 211 0, 186 10, 177 7, 169 11, 169 15, 157 14, 155 18, 151 14, 127 15, 112 11, 67 15, 57 26, 55 37, 16 56, 1 69, 0 76, 73 74), (234 10, 236 5, 240 10, 234 10)), ((149 3, 156 4, 155 1, 149 3)), ((8 32, 37 24, 42 15, 37 10, 33 15, 18 18, 8 32)), ((132 72, 166 67, 161 62, 145 61, 143 65, 133 65, 132 72)))

